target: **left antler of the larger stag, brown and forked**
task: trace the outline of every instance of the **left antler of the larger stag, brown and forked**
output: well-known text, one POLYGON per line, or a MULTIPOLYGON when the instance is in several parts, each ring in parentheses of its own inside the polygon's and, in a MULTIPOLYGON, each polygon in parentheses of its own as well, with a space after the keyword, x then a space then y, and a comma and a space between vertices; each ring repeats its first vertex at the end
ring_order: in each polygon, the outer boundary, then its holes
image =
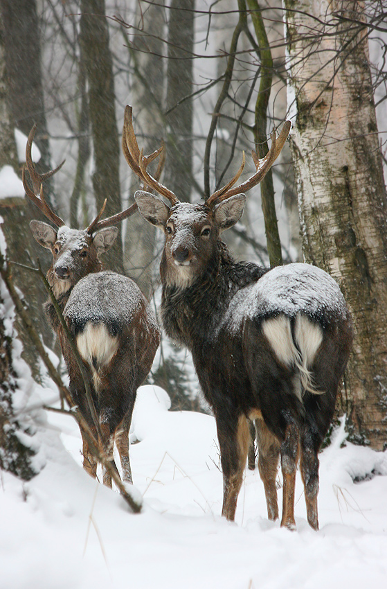
POLYGON ((159 194, 165 196, 165 198, 167 198, 173 206, 179 202, 179 199, 172 191, 168 190, 166 186, 163 186, 163 184, 159 182, 159 176, 161 174, 164 161, 163 149, 164 146, 162 145, 158 150, 154 151, 150 155, 143 155, 143 150, 140 151, 138 148, 136 135, 134 134, 132 107, 126 106, 123 128, 123 152, 125 159, 129 164, 129 167, 132 168, 134 173, 144 182, 145 186, 154 188, 154 190, 159 194), (159 168, 156 172, 156 178, 154 178, 147 172, 147 166, 159 155, 161 155, 159 168))

